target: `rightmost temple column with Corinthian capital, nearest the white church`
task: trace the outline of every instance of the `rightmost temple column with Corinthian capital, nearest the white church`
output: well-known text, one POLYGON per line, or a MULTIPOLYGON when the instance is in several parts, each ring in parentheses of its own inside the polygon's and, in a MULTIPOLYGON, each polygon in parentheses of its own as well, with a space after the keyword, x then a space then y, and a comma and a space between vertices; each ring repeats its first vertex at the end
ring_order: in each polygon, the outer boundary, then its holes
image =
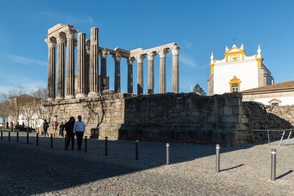
POLYGON ((172 50, 172 92, 179 93, 179 51, 181 47, 173 46, 172 50))

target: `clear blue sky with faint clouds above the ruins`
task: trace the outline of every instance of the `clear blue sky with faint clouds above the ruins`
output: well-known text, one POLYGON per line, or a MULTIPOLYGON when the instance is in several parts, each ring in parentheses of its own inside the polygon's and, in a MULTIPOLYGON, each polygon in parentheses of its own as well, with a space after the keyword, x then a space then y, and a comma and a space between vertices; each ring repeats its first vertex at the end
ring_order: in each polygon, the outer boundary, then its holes
MULTIPOLYGON (((180 92, 199 83, 207 92, 210 55, 222 59, 225 46, 244 43, 246 55, 261 45, 264 64, 275 83, 294 79, 294 1, 283 0, 9 0, 0 6, 0 92, 23 86, 47 86, 47 30, 71 24, 90 38, 99 28, 99 46, 149 49, 168 43, 182 47, 180 92)), ((76 56, 75 56, 76 57, 76 56)), ((172 54, 167 55, 167 92, 172 90, 172 54)), ((99 62, 100 64, 100 62, 99 62)), ((134 87, 137 83, 134 63, 134 87)), ((159 93, 159 56, 154 62, 155 93, 159 93)), ((76 72, 76 70, 75 70, 76 72)), ((110 89, 114 89, 114 61, 107 58, 110 89)), ((126 60, 121 63, 121 89, 127 91, 126 60)), ((137 89, 134 88, 134 93, 137 89)), ((147 58, 144 93, 147 92, 147 58)))

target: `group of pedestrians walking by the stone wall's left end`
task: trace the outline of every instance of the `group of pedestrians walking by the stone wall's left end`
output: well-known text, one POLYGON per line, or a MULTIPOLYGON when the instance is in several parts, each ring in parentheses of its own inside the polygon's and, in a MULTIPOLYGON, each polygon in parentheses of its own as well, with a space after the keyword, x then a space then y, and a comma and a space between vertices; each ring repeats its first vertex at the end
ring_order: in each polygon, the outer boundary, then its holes
MULTIPOLYGON (((57 136, 56 131, 57 131, 58 125, 59 125, 59 135, 58 136, 64 137, 63 131, 64 130, 66 131, 67 146, 69 147, 69 145, 72 141, 72 149, 73 150, 74 150, 74 136, 76 136, 76 139, 77 139, 77 149, 80 150, 81 146, 82 146, 84 132, 86 131, 86 125, 82 121, 82 117, 79 115, 77 117, 77 119, 78 119, 78 121, 75 121, 74 117, 70 117, 70 120, 68 122, 66 122, 65 124, 63 124, 63 122, 61 122, 61 124, 58 124, 57 115, 55 115, 53 118, 53 122, 51 124, 53 127, 54 137, 57 136)), ((49 123, 45 119, 44 123, 43 123, 43 130, 44 130, 45 137, 46 137, 46 135, 49 136, 48 128, 49 128, 49 123)))

